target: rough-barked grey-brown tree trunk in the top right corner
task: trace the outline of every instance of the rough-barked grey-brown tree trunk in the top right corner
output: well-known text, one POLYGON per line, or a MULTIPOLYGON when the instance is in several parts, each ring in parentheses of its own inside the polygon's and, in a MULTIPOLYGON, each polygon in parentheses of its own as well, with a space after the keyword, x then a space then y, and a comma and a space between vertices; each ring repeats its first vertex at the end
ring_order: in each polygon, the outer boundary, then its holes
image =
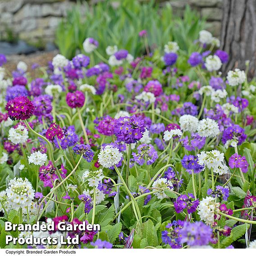
POLYGON ((221 49, 229 54, 223 72, 245 69, 250 61, 248 77, 256 76, 256 0, 224 0, 221 27, 221 49))

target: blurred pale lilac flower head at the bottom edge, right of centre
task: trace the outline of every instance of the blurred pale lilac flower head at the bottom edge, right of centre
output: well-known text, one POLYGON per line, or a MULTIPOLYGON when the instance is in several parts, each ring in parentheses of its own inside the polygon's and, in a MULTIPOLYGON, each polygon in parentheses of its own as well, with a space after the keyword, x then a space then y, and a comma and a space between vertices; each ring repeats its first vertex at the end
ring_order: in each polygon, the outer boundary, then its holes
POLYGON ((188 246, 208 245, 212 241, 212 229, 201 221, 194 223, 184 221, 179 234, 180 242, 185 242, 188 246))

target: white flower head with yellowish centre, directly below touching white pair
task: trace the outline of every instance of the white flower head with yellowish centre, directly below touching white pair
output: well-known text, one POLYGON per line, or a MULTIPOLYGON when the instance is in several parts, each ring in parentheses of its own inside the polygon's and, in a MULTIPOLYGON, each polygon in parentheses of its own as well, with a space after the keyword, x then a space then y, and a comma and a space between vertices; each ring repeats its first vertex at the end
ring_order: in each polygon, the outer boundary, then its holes
POLYGON ((218 150, 202 151, 197 155, 198 164, 205 165, 207 168, 219 167, 223 164, 224 153, 220 153, 218 150))

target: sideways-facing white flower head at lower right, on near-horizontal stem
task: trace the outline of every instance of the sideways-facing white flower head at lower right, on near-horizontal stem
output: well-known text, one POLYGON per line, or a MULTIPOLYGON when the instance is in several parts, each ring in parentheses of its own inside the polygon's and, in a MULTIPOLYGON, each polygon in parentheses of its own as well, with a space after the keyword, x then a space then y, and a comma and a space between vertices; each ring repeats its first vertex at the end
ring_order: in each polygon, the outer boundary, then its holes
POLYGON ((214 223, 214 215, 219 213, 219 203, 215 203, 214 197, 203 198, 197 207, 198 215, 206 224, 214 223))

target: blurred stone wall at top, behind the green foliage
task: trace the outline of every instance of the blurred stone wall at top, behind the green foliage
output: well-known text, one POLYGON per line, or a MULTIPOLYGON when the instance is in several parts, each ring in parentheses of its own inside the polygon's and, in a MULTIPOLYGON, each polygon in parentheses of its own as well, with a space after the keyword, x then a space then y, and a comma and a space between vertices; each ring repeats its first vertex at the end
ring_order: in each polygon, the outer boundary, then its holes
MULTIPOLYGON (((98 0, 91 0, 92 3, 98 0)), ((169 2, 174 12, 185 9, 189 4, 207 17, 209 30, 219 36, 223 0, 158 0, 161 5, 169 2)), ((71 0, 0 0, 0 38, 10 37, 9 33, 29 43, 44 44, 54 41, 56 27, 71 9, 71 0)))

